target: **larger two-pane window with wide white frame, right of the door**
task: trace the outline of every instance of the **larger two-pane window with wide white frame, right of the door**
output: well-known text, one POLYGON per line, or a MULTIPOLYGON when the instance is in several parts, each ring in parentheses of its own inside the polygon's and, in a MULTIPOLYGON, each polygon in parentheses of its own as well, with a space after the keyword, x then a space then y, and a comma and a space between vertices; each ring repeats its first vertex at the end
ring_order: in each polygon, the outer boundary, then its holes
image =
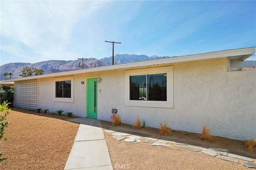
POLYGON ((173 108, 173 66, 125 71, 125 105, 173 108))

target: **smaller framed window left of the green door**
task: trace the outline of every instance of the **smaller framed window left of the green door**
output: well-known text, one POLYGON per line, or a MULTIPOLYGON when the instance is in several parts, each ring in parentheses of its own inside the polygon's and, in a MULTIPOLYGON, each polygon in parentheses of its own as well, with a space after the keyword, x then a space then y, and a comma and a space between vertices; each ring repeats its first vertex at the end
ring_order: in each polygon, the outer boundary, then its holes
POLYGON ((54 101, 74 102, 74 77, 54 78, 54 101))

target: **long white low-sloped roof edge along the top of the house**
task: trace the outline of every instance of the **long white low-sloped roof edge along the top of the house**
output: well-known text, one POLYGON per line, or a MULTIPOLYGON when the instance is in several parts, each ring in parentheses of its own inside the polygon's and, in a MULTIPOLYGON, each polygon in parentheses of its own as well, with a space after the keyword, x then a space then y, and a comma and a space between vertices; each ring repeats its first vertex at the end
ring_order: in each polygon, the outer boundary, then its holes
POLYGON ((223 50, 223 51, 214 51, 214 52, 199 53, 199 54, 193 54, 193 55, 183 55, 183 56, 169 57, 169 58, 164 58, 164 59, 154 59, 154 60, 148 60, 148 61, 139 61, 139 62, 133 62, 133 63, 107 65, 107 66, 93 67, 93 68, 88 68, 88 69, 80 69, 80 70, 73 70, 73 71, 64 71, 64 72, 59 72, 59 73, 36 75, 36 76, 30 76, 30 77, 20 77, 20 78, 16 78, 16 79, 2 80, 0 82, 38 79, 38 78, 44 78, 44 77, 58 77, 58 76, 74 75, 74 74, 81 74, 81 73, 91 73, 91 72, 98 72, 98 71, 126 69, 126 68, 132 68, 132 67, 160 65, 160 64, 167 64, 167 63, 178 63, 178 62, 184 62, 184 61, 195 61, 195 60, 201 60, 201 59, 213 59, 213 58, 221 58, 221 57, 241 56, 241 57, 243 57, 243 60, 245 60, 248 57, 250 57, 251 55, 253 55, 254 53, 255 53, 255 47, 228 49, 228 50, 223 50))

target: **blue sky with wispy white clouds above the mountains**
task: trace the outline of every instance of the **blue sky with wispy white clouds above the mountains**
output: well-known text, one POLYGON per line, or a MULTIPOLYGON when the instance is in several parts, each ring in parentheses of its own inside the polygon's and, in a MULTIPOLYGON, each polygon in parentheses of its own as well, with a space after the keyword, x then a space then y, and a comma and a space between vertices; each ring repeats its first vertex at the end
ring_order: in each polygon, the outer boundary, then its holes
MULTIPOLYGON (((256 1, 1 1, 0 65, 256 46, 256 1)), ((256 56, 250 57, 256 60, 256 56)))

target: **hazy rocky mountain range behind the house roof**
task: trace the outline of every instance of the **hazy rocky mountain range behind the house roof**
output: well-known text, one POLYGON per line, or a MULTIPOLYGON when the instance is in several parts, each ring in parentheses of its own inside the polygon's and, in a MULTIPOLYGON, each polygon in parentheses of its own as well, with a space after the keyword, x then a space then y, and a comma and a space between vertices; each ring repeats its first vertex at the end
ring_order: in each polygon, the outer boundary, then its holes
MULTIPOLYGON (((135 55, 135 54, 117 54, 114 56, 114 64, 123 64, 123 63, 132 63, 138 61, 147 61, 152 59, 162 59, 168 58, 167 57, 158 57, 153 55, 148 57, 146 55, 135 55)), ((92 68, 92 67, 102 67, 106 65, 112 65, 112 56, 105 57, 102 59, 95 59, 95 58, 88 58, 84 59, 84 69, 92 68)), ((23 67, 34 67, 37 69, 43 69, 44 74, 49 73, 58 73, 63 71, 71 71, 76 69, 82 69, 82 61, 81 60, 49 60, 49 61, 42 61, 38 63, 8 63, 0 66, 0 80, 4 80, 5 76, 3 75, 4 72, 11 72, 12 79, 20 77, 23 67), (80 68, 78 67, 80 63, 80 68)), ((9 77, 9 76, 7 76, 9 77)))

